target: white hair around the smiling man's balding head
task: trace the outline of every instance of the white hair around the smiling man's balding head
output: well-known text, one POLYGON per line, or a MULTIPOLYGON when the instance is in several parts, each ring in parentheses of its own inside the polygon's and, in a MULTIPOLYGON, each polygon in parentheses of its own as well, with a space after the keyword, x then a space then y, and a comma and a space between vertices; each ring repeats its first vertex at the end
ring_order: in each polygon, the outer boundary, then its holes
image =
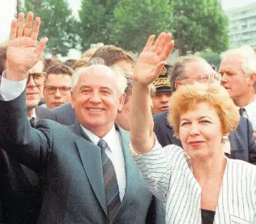
MULTIPOLYGON (((100 57, 94 57, 88 61, 88 64, 86 67, 77 68, 72 76, 72 91, 75 91, 75 87, 77 85, 77 82, 79 81, 79 77, 82 74, 82 71, 86 70, 90 66, 105 66, 105 61, 100 57)), ((122 95, 125 93, 126 87, 127 87, 127 80, 125 72, 119 67, 119 66, 111 66, 109 67, 111 70, 113 70, 114 74, 117 78, 117 88, 119 91, 119 94, 122 95)), ((99 80, 100 81, 100 80, 99 80)))

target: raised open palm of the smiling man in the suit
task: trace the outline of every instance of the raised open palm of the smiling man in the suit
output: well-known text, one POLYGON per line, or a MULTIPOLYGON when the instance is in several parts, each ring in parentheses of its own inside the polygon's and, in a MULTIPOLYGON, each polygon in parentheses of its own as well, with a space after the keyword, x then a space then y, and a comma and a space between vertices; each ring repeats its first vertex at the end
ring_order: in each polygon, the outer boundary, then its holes
POLYGON ((33 23, 33 13, 28 12, 24 24, 24 14, 19 13, 18 21, 11 23, 11 33, 8 43, 6 61, 6 78, 19 81, 26 78, 28 70, 36 65, 42 57, 48 38, 36 42, 41 19, 36 17, 33 23))

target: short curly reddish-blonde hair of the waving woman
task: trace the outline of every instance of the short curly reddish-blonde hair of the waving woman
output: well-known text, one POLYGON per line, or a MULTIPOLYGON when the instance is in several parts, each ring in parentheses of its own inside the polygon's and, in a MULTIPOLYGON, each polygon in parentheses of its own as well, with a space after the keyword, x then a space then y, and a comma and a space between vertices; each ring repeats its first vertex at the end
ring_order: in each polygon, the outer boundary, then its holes
POLYGON ((215 108, 224 134, 237 128, 240 115, 228 91, 215 83, 195 83, 179 87, 169 101, 169 123, 173 126, 176 137, 179 137, 181 114, 196 109, 200 103, 215 108))

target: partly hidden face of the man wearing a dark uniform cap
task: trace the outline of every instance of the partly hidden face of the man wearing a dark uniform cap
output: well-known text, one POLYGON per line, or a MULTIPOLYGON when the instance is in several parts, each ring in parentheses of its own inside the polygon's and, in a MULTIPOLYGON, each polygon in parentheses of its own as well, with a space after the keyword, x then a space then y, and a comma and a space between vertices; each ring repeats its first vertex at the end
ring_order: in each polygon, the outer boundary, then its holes
POLYGON ((152 97, 152 114, 167 111, 169 108, 169 97, 172 95, 171 91, 156 92, 156 95, 152 97))

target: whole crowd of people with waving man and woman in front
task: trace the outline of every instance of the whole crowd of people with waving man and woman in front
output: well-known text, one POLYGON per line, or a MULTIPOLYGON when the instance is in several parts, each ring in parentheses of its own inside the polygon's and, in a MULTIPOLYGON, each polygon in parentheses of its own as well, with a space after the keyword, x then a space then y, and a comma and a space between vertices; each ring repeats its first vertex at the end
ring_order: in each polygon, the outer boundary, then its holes
POLYGON ((23 13, 0 46, 0 223, 256 223, 256 53, 43 58, 23 13))

